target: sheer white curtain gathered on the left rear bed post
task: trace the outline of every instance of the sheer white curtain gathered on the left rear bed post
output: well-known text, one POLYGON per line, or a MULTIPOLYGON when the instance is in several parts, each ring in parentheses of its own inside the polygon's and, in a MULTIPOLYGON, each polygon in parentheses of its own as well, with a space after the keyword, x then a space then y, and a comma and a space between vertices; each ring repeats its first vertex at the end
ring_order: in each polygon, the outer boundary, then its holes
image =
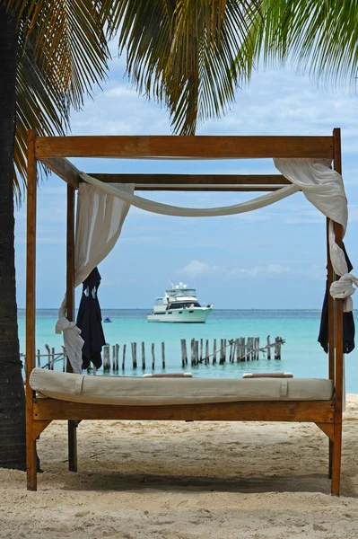
MULTIPOLYGON (((133 193, 133 183, 123 184, 133 193)), ((115 246, 130 204, 87 183, 80 183, 74 241, 74 287, 78 287, 115 246)), ((81 331, 66 317, 66 301, 58 311, 56 332, 63 333, 65 350, 74 373, 82 373, 81 331)))

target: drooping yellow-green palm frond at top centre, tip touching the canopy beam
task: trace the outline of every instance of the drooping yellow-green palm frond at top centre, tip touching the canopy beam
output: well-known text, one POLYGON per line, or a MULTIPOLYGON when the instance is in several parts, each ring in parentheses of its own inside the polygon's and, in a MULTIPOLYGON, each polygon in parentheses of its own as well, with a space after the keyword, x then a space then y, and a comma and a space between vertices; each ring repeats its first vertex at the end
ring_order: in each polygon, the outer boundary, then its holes
POLYGON ((118 30, 119 50, 127 49, 128 76, 138 92, 166 104, 175 132, 195 133, 197 122, 220 116, 234 102, 237 85, 250 75, 240 50, 249 50, 249 22, 255 20, 258 4, 113 3, 109 31, 113 36, 118 30))

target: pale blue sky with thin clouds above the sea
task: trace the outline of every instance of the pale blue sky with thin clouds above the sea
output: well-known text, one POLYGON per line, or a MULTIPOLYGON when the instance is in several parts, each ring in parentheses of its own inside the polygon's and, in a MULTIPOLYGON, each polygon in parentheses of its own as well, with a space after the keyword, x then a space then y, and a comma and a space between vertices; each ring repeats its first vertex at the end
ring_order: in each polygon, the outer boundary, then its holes
MULTIPOLYGON (((72 115, 72 135, 170 135, 168 112, 135 92, 125 58, 72 115)), ((263 69, 236 92, 221 119, 197 135, 331 135, 342 128, 349 204, 345 246, 358 274, 358 96, 328 91, 290 69, 263 69)), ((272 160, 150 162, 74 159, 85 172, 278 173, 272 160)), ((52 175, 38 195, 37 307, 57 308, 65 294, 65 182, 52 175)), ((235 204, 255 193, 137 194, 196 208, 235 204)), ((17 301, 25 306, 26 204, 15 212, 17 301)), ((129 210, 117 245, 99 267, 100 304, 151 308, 168 279, 196 287, 203 304, 230 309, 319 309, 326 279, 326 220, 301 193, 239 216, 188 218, 129 210)), ((76 290, 77 298, 80 290, 76 290)), ((358 297, 357 297, 358 301, 358 297)), ((77 303, 78 305, 78 303, 77 303)))

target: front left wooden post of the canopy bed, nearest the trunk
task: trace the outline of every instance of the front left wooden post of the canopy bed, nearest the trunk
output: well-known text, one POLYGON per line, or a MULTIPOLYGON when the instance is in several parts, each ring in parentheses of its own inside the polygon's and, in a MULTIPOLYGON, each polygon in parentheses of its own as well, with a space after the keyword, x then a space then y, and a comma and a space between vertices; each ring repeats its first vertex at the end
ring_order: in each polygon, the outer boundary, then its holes
POLYGON ((35 367, 36 331, 36 157, 35 131, 28 131, 27 155, 27 251, 26 251, 26 469, 27 488, 37 490, 36 436, 33 423, 33 399, 29 379, 35 367))

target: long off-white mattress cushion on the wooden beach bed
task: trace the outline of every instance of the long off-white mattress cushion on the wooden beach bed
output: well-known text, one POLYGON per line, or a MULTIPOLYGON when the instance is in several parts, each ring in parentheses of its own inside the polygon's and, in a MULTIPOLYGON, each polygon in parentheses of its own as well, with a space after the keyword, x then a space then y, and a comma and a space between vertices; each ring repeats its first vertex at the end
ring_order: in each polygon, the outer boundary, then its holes
POLYGON ((320 378, 143 378, 86 376, 40 368, 33 390, 61 401, 148 405, 239 401, 329 401, 331 380, 320 378))

